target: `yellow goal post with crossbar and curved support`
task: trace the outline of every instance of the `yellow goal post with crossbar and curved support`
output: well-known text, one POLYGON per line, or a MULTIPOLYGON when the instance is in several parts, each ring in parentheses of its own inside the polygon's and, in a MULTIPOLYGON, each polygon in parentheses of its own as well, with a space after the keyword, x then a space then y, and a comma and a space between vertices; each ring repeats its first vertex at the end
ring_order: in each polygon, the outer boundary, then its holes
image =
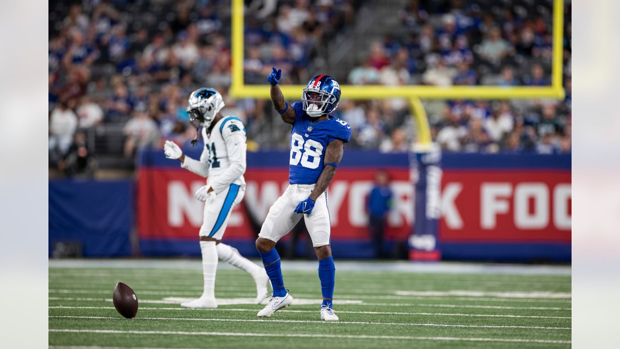
MULTIPOLYGON (((232 0, 232 77, 229 93, 234 97, 268 99, 269 86, 244 84, 244 1, 232 0)), ((347 99, 409 99, 412 116, 418 129, 418 147, 431 144, 428 117, 420 99, 538 99, 564 98, 562 86, 562 42, 564 40, 564 0, 553 0, 553 42, 551 86, 384 86, 340 84, 342 96, 347 99)), ((280 85, 285 97, 301 95, 305 85, 280 85)))

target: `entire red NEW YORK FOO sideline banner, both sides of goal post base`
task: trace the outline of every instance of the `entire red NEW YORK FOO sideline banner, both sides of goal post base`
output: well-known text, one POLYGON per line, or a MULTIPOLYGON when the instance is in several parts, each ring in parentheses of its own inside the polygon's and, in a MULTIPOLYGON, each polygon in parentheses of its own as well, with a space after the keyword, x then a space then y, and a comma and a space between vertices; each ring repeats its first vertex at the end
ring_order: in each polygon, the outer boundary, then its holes
MULTIPOLYGON (((387 169, 394 209, 387 238, 406 240, 413 224, 414 186, 409 171, 387 169)), ((339 170, 329 187, 332 239, 368 240, 366 196, 374 170, 339 170)), ((269 207, 288 186, 288 169, 248 169, 246 196, 231 214, 226 238, 253 239, 269 207)), ((140 238, 195 240, 203 203, 194 198, 205 184, 185 170, 141 168, 138 178, 140 238)), ((570 242, 570 173, 567 171, 444 171, 441 242, 570 242)))

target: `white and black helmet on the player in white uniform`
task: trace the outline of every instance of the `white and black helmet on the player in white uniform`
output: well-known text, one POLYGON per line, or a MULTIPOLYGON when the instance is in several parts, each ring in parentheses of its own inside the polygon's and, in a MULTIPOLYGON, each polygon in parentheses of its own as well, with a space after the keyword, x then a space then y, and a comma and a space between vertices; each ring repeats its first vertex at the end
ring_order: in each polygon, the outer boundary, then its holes
POLYGON ((224 107, 224 99, 216 89, 199 88, 190 94, 187 114, 193 127, 204 126, 207 129, 218 112, 224 107))

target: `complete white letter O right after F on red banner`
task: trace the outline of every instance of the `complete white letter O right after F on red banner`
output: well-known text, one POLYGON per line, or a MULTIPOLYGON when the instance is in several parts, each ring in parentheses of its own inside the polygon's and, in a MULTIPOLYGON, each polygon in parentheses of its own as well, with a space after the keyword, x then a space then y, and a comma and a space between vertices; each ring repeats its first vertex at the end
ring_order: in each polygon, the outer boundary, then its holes
POLYGON ((515 227, 543 229, 549 224, 549 189, 544 183, 519 183, 515 186, 515 227), (529 213, 529 198, 534 212, 529 213))

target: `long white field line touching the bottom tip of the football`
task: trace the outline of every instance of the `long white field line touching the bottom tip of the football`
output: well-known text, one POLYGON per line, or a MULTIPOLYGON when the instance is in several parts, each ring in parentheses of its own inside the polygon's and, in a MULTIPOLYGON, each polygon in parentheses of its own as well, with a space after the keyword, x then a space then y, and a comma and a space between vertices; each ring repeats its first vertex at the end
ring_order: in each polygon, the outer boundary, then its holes
MULTIPOLYGON (((114 316, 78 316, 78 315, 50 315, 55 319, 120 319, 114 316)), ((325 324, 324 320, 278 320, 278 319, 195 319, 188 317, 137 317, 139 320, 165 321, 220 321, 220 322, 285 322, 298 324, 325 324)), ((334 321, 340 325, 391 325, 391 326, 432 326, 432 327, 467 327, 471 329, 537 329, 537 330, 570 330, 570 327, 546 326, 505 326, 505 325, 452 325, 452 324, 416 324, 406 322, 370 322, 370 321, 334 321)))

